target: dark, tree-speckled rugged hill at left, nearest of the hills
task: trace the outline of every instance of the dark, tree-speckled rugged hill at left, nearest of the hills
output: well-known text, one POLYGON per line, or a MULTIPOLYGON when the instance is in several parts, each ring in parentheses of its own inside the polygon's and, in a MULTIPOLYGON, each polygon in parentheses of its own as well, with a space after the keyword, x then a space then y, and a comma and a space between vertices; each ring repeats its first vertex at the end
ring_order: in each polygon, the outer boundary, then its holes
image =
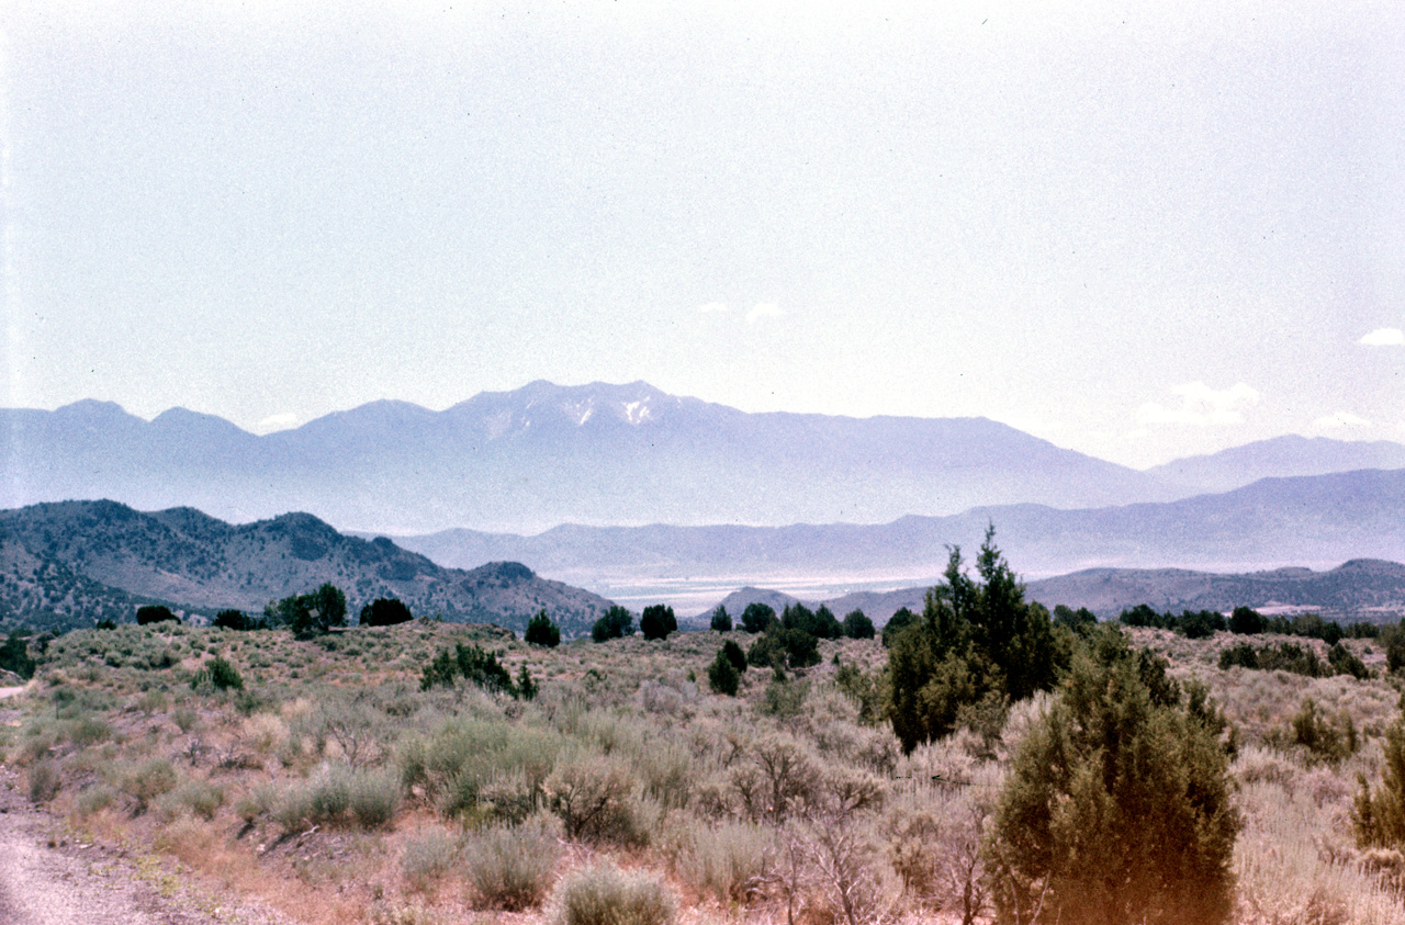
POLYGON ((332 581, 354 620, 379 597, 417 616, 521 632, 545 609, 566 636, 589 632, 604 598, 514 561, 445 568, 385 538, 344 536, 309 514, 233 526, 192 508, 143 514, 112 501, 0 511, 0 625, 63 629, 131 620, 138 604, 214 613, 332 581))

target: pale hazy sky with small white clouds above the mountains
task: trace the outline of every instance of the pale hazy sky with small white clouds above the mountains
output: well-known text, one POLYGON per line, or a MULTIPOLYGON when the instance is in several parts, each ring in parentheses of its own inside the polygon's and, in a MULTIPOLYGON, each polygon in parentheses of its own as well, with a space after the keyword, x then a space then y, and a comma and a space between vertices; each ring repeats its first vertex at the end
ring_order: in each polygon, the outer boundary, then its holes
POLYGON ((1405 441, 1405 4, 385 6, 6 4, 4 404, 1405 441))

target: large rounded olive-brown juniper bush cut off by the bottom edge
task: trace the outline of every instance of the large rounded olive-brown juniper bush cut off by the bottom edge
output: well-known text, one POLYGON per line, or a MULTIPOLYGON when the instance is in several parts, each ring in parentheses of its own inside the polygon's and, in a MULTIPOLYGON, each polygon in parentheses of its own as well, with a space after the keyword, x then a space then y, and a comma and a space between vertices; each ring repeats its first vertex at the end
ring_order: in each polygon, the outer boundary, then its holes
POLYGON ((1225 922, 1238 830, 1211 730, 1156 703, 1125 639, 1106 627, 1075 657, 1000 792, 984 849, 998 919, 1225 922))

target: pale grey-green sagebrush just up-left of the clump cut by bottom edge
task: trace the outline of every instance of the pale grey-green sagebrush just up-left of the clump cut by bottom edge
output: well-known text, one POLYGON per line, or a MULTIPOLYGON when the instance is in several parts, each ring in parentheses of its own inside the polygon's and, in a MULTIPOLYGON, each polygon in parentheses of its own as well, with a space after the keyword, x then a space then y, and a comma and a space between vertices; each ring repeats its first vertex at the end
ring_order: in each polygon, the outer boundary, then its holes
POLYGON ((464 842, 478 908, 517 912, 541 905, 561 858, 561 824, 534 816, 516 828, 489 828, 464 842))

